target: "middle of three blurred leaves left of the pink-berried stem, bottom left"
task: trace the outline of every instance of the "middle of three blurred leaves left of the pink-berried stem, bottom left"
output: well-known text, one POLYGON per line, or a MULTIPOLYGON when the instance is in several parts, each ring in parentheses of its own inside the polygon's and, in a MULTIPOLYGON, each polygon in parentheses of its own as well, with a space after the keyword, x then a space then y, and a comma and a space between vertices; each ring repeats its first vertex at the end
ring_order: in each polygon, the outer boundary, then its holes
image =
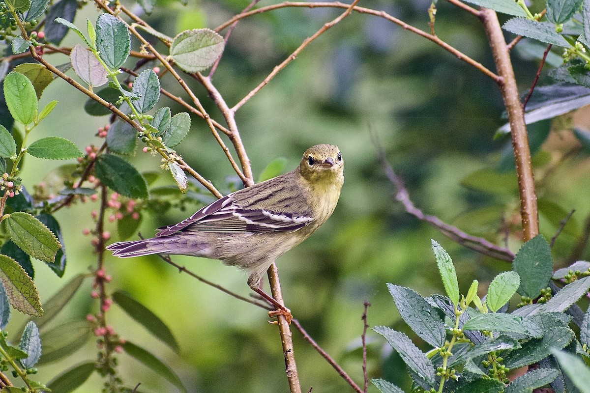
POLYGON ((43 354, 37 365, 63 359, 82 348, 90 338, 90 326, 86 321, 73 321, 41 332, 43 354))

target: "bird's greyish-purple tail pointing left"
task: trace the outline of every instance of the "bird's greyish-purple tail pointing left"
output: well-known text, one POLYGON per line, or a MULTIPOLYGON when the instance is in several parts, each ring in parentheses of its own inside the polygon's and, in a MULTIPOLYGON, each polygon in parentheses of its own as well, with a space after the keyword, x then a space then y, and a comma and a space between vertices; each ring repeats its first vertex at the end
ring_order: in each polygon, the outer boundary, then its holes
POLYGON ((152 254, 207 256, 203 245, 194 243, 188 245, 175 236, 152 237, 151 239, 133 240, 132 242, 113 243, 107 247, 107 250, 111 250, 113 255, 120 258, 152 254))

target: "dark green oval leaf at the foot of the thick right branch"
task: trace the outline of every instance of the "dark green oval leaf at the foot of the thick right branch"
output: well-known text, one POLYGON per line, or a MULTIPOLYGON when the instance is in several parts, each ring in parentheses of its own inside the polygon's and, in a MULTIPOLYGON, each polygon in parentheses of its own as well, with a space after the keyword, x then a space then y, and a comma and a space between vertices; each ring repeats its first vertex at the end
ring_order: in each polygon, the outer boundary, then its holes
POLYGON ((540 289, 549 285, 553 275, 551 248, 543 235, 533 237, 520 247, 512 269, 520 276, 520 295, 533 299, 540 295, 540 289))

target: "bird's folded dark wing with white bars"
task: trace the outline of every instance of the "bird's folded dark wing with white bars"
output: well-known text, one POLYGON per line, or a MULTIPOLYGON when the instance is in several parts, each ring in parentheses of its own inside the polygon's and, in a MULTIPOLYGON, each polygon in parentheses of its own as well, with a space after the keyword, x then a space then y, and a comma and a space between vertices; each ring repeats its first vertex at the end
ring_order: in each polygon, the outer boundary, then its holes
POLYGON ((205 206, 188 219, 159 228, 157 237, 179 230, 187 232, 293 232, 313 221, 307 214, 273 212, 267 209, 239 206, 232 194, 205 206))

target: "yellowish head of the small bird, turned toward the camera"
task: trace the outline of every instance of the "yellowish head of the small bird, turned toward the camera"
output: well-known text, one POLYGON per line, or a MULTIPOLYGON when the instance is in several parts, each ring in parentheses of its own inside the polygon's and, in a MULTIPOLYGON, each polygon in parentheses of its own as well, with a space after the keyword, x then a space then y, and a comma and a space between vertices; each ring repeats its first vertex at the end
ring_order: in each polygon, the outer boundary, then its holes
POLYGON ((299 171, 301 176, 314 183, 342 182, 344 160, 340 149, 330 144, 312 146, 301 158, 299 171))

